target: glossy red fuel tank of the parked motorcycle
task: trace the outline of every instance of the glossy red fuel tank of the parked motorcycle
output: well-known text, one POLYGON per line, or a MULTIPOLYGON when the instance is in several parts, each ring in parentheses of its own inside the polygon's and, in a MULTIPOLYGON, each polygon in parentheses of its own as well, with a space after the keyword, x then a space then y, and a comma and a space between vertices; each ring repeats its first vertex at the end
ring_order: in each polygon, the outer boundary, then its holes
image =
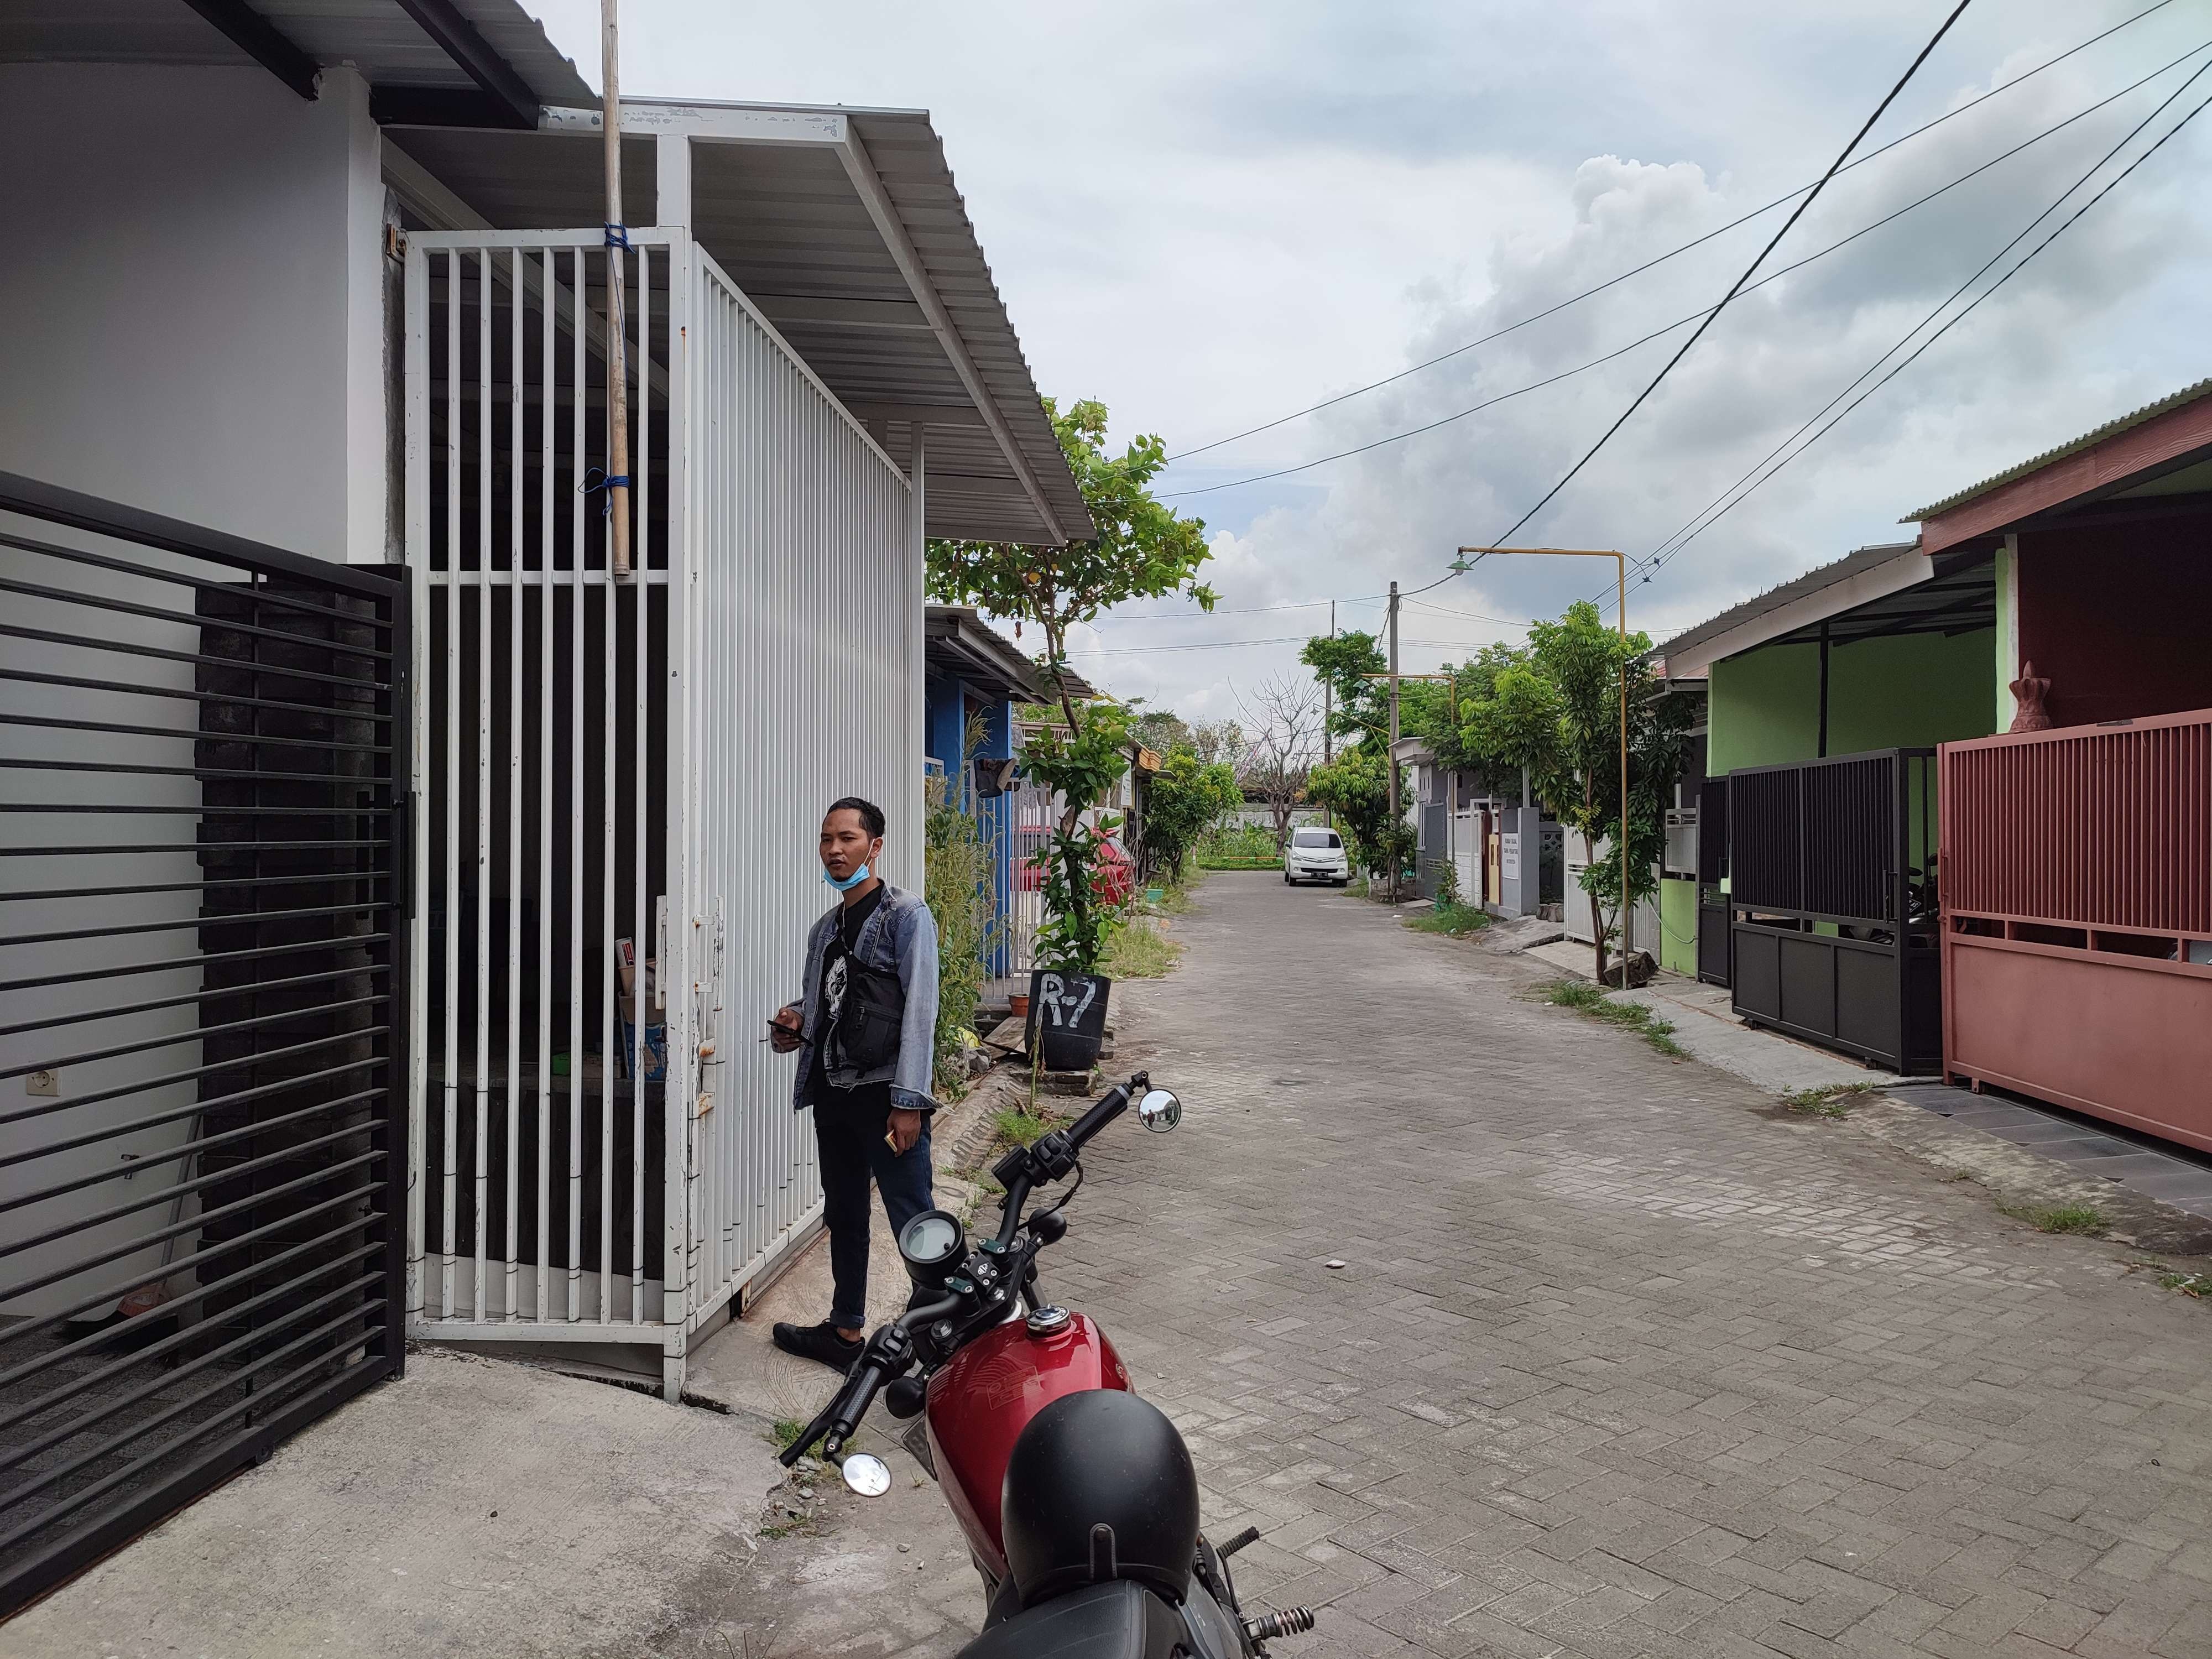
POLYGON ((1029 1420, 1064 1394, 1128 1389, 1128 1367, 1082 1314, 1053 1332, 1013 1321, 984 1332, 929 1378, 929 1451, 938 1486, 993 1577, 1006 1573, 998 1500, 1029 1420))

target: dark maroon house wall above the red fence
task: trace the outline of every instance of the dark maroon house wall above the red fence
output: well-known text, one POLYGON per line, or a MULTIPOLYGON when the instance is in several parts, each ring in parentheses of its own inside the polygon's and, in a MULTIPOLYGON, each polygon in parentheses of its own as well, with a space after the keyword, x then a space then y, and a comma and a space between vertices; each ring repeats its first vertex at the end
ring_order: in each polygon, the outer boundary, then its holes
POLYGON ((2212 515, 2022 531, 2015 573, 2055 726, 2212 706, 2212 515))

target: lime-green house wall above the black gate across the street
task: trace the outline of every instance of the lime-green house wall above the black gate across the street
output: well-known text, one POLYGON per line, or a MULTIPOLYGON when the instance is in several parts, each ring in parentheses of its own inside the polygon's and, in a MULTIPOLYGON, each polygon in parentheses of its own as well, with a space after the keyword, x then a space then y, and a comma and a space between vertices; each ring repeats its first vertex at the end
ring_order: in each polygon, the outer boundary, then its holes
MULTIPOLYGON (((1829 650, 1827 752, 1989 737, 1995 641, 1898 635, 1829 650)), ((1809 761, 1820 752, 1820 646, 1763 646, 1712 664, 1708 772, 1809 761)))

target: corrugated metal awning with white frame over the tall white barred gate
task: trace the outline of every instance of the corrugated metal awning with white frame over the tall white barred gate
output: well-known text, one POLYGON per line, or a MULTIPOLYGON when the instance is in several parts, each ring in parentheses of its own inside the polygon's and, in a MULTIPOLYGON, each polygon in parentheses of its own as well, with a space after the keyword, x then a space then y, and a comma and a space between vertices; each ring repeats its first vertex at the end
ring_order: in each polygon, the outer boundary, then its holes
MULTIPOLYGON (((436 228, 595 226, 593 108, 538 133, 387 128, 387 177, 436 228)), ((925 440, 929 535, 1093 533, 925 111, 624 100, 624 212, 666 223, 655 139, 690 135, 690 228, 894 458, 925 440)))

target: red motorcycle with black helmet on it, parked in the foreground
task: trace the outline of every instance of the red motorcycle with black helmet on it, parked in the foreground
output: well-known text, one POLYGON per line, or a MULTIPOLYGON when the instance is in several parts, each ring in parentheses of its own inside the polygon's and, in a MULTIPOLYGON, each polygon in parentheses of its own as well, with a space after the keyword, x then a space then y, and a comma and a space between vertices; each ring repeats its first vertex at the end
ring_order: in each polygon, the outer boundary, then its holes
POLYGON ((1259 1528, 1208 1542, 1183 1436, 1137 1398, 1106 1334, 1037 1287, 1040 1252, 1068 1232, 1084 1144, 1133 1099, 1148 1130, 1181 1121, 1181 1102, 1139 1071, 993 1166, 1006 1194, 995 1234, 971 1241, 945 1210, 900 1230, 909 1310, 867 1338, 836 1398, 783 1451, 792 1467, 821 1442, 854 1493, 880 1498, 889 1467, 838 1453, 878 1394, 914 1425, 905 1444, 984 1584, 982 1635, 960 1659, 1265 1659, 1272 1637, 1314 1628, 1307 1608, 1243 1615, 1230 1557, 1259 1528), (1060 1199, 1026 1214, 1055 1181, 1068 1181, 1060 1199))

